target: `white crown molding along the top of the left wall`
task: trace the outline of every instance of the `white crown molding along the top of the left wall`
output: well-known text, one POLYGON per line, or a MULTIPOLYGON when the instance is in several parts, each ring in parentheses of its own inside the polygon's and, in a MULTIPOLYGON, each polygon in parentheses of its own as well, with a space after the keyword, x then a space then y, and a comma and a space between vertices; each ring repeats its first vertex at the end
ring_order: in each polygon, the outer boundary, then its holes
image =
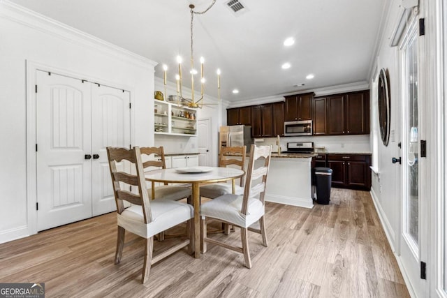
MULTIPOLYGON (((125 50, 122 47, 118 47, 112 43, 108 43, 105 40, 91 36, 84 31, 80 31, 73 27, 70 27, 57 20, 53 20, 50 17, 36 13, 33 10, 24 8, 8 0, 0 0, 0 17, 5 18, 18 24, 22 24, 32 29, 36 29, 43 33, 56 36, 64 40, 68 40, 71 43, 76 43, 85 47, 90 47, 94 50, 108 54, 111 57, 121 59, 123 61, 141 66, 144 68, 154 68, 158 63, 135 54, 129 50, 125 50)), ((155 70, 154 70, 155 71, 155 70)))

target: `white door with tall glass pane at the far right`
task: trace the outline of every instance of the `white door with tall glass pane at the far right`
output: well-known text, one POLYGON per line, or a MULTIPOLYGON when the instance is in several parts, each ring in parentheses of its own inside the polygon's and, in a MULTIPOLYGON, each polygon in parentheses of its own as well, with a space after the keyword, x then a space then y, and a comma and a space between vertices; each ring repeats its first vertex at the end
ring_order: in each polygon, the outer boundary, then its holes
POLYGON ((418 34, 418 18, 409 24, 400 47, 402 198, 400 256, 417 297, 426 297, 426 281, 421 278, 421 262, 427 262, 427 181, 426 159, 421 156, 425 140, 423 42, 418 34))

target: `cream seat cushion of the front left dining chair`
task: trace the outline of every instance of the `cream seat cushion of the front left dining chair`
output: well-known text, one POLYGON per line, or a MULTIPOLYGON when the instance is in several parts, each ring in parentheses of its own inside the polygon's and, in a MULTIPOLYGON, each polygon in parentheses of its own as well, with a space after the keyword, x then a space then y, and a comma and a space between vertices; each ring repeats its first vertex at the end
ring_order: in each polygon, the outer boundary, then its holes
POLYGON ((132 205, 118 214, 118 225, 140 237, 149 238, 194 217, 194 209, 190 204, 171 200, 154 200, 150 204, 151 223, 145 223, 140 205, 132 205))

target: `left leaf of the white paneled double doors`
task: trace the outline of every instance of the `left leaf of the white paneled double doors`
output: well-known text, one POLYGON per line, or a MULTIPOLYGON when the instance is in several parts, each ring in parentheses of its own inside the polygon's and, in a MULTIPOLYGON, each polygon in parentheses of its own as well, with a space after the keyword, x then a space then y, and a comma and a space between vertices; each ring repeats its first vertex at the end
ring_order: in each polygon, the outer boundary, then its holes
POLYGON ((91 84, 37 71, 38 230, 91 217, 91 84))

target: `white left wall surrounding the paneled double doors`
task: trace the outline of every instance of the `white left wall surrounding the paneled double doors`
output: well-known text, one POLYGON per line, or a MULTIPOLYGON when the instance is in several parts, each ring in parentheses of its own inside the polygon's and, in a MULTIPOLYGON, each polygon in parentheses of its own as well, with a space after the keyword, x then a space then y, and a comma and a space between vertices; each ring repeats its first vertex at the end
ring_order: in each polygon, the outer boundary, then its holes
MULTIPOLYGON (((32 98, 27 98, 26 61, 131 91, 132 142, 146 146, 154 142, 149 99, 155 64, 10 3, 0 2, 0 36, 1 243, 31 234, 36 225, 27 210, 36 193, 27 193, 27 170, 33 170, 27 168, 27 150, 35 144, 27 143, 27 100, 32 98)), ((29 84, 32 88, 34 82, 29 84)))

